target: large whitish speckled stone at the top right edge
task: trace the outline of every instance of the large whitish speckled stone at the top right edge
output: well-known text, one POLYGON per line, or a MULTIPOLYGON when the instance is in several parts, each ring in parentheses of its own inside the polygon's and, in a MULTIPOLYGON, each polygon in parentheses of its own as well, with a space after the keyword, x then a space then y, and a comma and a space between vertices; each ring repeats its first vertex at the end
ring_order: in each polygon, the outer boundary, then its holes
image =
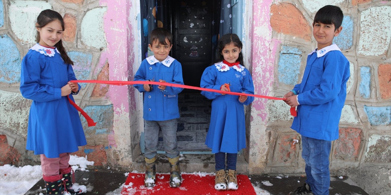
POLYGON ((391 40, 391 7, 370 7, 361 12, 359 54, 383 55, 391 40))

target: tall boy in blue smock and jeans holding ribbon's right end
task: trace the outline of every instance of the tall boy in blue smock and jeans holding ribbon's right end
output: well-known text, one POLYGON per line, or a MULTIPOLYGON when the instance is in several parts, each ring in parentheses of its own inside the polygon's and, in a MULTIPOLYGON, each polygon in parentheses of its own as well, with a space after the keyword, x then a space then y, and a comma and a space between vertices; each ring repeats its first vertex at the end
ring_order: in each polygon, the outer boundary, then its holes
POLYGON ((294 195, 328 195, 329 156, 332 140, 338 139, 339 119, 346 99, 349 61, 333 38, 341 30, 343 13, 337 6, 319 9, 312 23, 317 49, 308 54, 300 84, 285 94, 289 106, 297 106, 292 129, 301 134, 307 180, 294 195))

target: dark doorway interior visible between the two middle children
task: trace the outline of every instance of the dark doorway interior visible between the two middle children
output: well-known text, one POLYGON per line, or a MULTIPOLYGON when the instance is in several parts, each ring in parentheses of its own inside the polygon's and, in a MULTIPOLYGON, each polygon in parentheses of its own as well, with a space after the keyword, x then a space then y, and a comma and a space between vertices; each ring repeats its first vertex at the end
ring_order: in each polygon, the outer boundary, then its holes
MULTIPOLYGON (((219 32, 219 0, 167 1, 170 13, 173 47, 171 56, 182 64, 185 85, 199 87, 204 69, 215 58, 219 32)), ((182 153, 204 153, 210 149, 204 144, 209 128, 211 101, 198 90, 183 90, 179 94, 177 140, 182 153)), ((163 137, 159 136, 158 150, 164 151, 163 137)))

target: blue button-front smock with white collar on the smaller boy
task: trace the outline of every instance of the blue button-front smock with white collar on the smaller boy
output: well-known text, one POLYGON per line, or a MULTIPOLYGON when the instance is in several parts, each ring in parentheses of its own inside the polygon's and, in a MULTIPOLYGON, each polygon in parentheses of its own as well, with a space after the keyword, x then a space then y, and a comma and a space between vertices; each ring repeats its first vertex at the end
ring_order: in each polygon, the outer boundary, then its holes
MULTIPOLYGON (((183 85, 182 66, 178 60, 167 56, 159 61, 154 55, 145 58, 135 74, 135 81, 165 80, 167 83, 183 85)), ((152 85, 147 92, 143 85, 133 85, 139 92, 144 92, 143 118, 147 121, 167 121, 179 118, 178 94, 183 90, 179 87, 167 86, 160 90, 158 85, 152 85)))

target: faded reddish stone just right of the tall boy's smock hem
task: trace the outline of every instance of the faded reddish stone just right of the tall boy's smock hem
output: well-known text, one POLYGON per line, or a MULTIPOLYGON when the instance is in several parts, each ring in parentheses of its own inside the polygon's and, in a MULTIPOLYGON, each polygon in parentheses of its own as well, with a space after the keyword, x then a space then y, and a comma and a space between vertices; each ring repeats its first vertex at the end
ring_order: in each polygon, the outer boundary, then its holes
POLYGON ((359 158, 362 140, 362 130, 357 128, 339 129, 339 138, 334 142, 334 157, 342 160, 357 160, 359 158))

